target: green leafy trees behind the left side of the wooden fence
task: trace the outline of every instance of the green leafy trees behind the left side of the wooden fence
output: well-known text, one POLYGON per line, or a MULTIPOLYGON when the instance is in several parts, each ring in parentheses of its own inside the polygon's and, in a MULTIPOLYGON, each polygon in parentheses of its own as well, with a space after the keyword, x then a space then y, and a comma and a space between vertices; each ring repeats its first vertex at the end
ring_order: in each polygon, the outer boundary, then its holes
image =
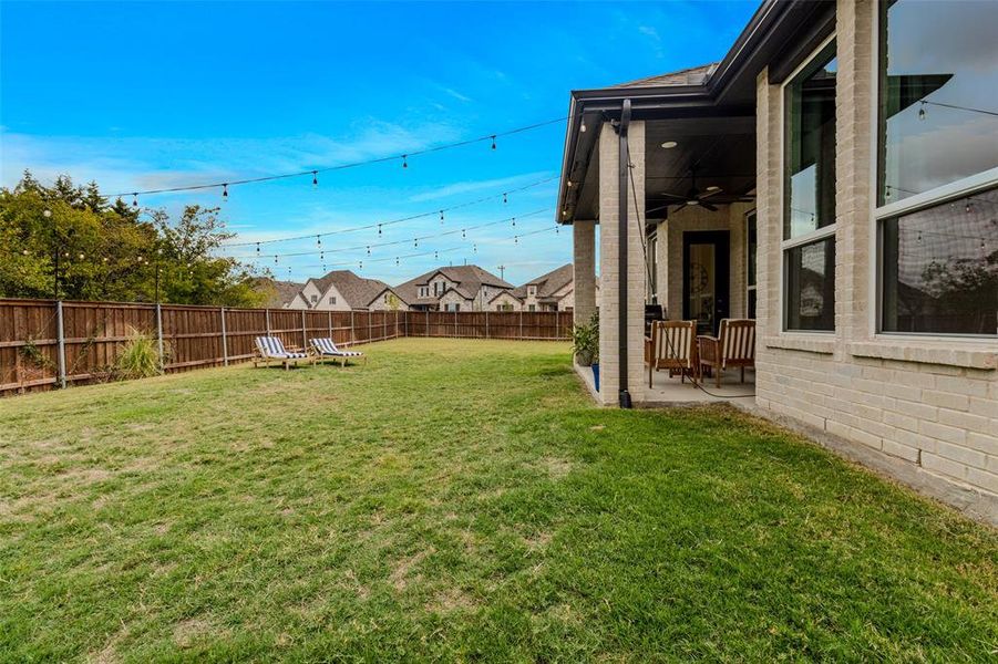
POLYGON ((253 271, 218 256, 233 236, 217 212, 188 206, 174 225, 164 210, 109 205, 96 183, 45 187, 25 172, 0 188, 0 297, 257 305, 253 271))

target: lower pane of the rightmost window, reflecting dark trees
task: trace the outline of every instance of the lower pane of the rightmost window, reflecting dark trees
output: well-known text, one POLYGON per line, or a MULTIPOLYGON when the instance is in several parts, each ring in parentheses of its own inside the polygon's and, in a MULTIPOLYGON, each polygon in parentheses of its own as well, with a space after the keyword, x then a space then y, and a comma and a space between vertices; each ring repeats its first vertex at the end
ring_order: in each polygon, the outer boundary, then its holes
POLYGON ((998 190, 883 222, 885 332, 998 333, 998 190))

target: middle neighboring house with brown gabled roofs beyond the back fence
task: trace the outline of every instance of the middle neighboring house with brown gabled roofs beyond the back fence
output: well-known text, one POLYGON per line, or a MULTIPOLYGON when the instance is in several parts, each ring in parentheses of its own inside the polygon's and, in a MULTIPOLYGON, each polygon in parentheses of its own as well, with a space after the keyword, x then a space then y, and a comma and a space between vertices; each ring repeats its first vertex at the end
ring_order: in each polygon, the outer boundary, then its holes
POLYGON ((415 311, 484 311, 497 293, 513 284, 479 266, 438 268, 395 287, 415 311))

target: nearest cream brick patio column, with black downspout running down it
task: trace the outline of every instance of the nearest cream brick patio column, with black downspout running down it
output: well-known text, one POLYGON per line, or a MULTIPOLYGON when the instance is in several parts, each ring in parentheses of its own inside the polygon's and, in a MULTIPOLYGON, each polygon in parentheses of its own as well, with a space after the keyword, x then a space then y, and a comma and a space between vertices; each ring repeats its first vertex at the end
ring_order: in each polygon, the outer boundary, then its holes
POLYGON ((604 404, 618 403, 619 357, 619 280, 627 279, 628 383, 631 400, 642 401, 645 369, 645 252, 641 243, 645 219, 645 123, 630 123, 628 129, 630 162, 634 165, 636 191, 627 196, 627 274, 620 274, 619 260, 619 151, 614 128, 606 124, 599 134, 599 397, 604 404), (635 207, 637 198, 638 207, 635 207))

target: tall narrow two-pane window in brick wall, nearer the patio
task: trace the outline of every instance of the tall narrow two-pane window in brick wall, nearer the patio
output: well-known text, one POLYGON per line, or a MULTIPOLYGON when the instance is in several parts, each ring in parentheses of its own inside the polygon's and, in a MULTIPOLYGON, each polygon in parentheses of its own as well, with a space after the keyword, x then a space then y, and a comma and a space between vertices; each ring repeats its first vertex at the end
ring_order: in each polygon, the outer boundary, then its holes
POLYGON ((784 90, 783 328, 835 329, 835 42, 784 90))

